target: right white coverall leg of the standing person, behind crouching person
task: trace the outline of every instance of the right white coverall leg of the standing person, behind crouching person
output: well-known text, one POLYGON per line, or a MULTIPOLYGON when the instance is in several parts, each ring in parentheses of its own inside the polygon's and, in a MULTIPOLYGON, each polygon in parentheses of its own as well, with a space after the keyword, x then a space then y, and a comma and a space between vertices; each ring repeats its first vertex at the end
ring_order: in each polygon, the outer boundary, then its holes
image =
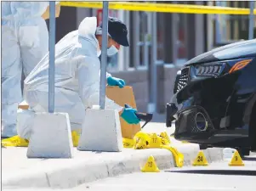
POLYGON ((36 25, 20 26, 20 51, 25 76, 48 53, 48 28, 43 18, 33 20, 36 25))

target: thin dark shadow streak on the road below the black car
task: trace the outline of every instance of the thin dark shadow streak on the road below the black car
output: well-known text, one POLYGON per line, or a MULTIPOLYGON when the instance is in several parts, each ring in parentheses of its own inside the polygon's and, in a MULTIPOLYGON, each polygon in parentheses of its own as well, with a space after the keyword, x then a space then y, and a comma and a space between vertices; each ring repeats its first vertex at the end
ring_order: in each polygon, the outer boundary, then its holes
POLYGON ((165 171, 165 172, 188 173, 188 174, 210 174, 210 175, 256 176, 256 171, 247 171, 247 170, 186 170, 186 171, 165 171))

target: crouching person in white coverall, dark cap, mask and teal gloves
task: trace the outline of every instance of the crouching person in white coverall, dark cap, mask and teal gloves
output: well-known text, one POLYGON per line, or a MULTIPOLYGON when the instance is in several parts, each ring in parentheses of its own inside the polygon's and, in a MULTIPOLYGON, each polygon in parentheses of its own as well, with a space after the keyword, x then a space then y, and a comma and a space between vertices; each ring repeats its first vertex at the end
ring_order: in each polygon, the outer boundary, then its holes
MULTIPOLYGON (((120 45, 128 47, 126 25, 116 18, 108 22, 109 56, 118 52, 120 45)), ((102 28, 96 17, 82 20, 77 31, 72 31, 55 45, 55 112, 69 114, 71 131, 81 130, 85 110, 100 104, 100 55, 102 28)), ((24 96, 30 110, 18 112, 17 131, 20 138, 30 138, 35 112, 48 112, 48 55, 26 77, 24 96)), ((123 87, 124 81, 107 76, 110 86, 123 87)), ((122 112, 130 124, 138 124, 136 110, 126 109, 105 98, 105 109, 122 112)), ((86 121, 85 121, 86 122, 86 121)), ((50 133, 50 132, 49 132, 50 133)))

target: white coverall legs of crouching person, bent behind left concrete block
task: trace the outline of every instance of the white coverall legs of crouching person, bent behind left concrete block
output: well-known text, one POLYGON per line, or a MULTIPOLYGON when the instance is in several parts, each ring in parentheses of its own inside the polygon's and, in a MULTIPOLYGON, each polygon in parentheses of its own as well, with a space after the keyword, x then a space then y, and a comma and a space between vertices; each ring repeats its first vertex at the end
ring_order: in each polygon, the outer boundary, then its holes
MULTIPOLYGON (((48 86, 43 90, 32 90, 24 92, 26 102, 30 105, 31 111, 21 111, 18 113, 17 126, 18 134, 21 138, 30 138, 30 131, 34 115, 31 112, 48 112, 48 86)), ((85 117, 85 108, 78 93, 55 87, 54 112, 67 113, 71 122, 71 131, 81 130, 85 117)), ((49 132, 50 133, 50 132, 49 132)))

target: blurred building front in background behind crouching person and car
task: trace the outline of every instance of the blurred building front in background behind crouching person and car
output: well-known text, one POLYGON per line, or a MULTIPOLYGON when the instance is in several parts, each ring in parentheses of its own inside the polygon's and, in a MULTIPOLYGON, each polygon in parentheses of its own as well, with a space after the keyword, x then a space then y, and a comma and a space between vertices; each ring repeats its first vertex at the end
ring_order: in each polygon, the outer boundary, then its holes
MULTIPOLYGON (((210 2, 176 3, 214 5, 210 2)), ((247 2, 226 2, 221 5, 248 6, 247 2)), ((56 40, 77 30, 84 17, 97 16, 101 20, 100 15, 101 11, 97 9, 62 7, 60 18, 56 20, 56 40)), ((220 41, 238 40, 247 29, 245 18, 238 20, 236 17, 234 20, 227 15, 123 10, 110 10, 110 15, 116 16, 128 26, 130 47, 122 48, 116 56, 109 58, 107 70, 134 88, 137 107, 141 112, 164 113, 166 103, 173 96, 176 73, 185 61, 214 48, 219 38, 217 34, 221 33, 220 41), (218 31, 216 22, 219 20, 221 23, 218 31)))

